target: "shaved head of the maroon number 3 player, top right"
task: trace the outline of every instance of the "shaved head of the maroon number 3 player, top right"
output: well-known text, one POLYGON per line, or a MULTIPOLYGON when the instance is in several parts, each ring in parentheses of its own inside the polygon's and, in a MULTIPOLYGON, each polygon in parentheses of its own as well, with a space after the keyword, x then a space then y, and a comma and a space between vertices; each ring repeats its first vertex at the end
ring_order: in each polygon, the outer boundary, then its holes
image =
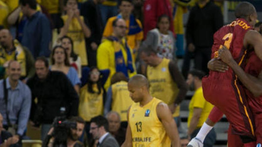
POLYGON ((235 9, 236 18, 247 18, 254 13, 256 13, 255 7, 247 1, 239 3, 235 9))

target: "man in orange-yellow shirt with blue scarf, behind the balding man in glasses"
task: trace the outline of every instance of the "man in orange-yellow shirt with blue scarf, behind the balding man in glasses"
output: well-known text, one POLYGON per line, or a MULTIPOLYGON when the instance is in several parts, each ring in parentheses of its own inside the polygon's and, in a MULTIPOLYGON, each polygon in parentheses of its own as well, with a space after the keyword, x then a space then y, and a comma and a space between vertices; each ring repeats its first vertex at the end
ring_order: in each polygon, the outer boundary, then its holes
POLYGON ((133 59, 136 57, 137 50, 140 46, 140 42, 143 39, 142 24, 132 14, 134 5, 131 0, 122 0, 119 6, 120 13, 117 16, 111 17, 107 20, 107 24, 104 29, 103 38, 112 35, 113 26, 112 23, 116 18, 122 18, 125 20, 127 25, 127 44, 133 50, 133 59))

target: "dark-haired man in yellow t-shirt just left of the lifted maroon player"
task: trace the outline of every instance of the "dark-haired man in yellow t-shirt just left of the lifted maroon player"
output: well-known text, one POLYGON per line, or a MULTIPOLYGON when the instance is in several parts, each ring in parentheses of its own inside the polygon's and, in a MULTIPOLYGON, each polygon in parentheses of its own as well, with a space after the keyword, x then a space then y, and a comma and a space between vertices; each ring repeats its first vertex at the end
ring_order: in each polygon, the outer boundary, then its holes
MULTIPOLYGON (((202 124, 208 118, 210 111, 213 108, 213 105, 207 102, 203 95, 202 90, 202 78, 205 76, 205 73, 193 69, 188 74, 187 83, 191 91, 195 91, 190 103, 189 103, 189 115, 188 115, 188 136, 189 138, 196 137, 199 132, 202 124)), ((210 130, 207 137, 204 140, 205 146, 213 146, 216 142, 216 132, 213 129, 210 130)))

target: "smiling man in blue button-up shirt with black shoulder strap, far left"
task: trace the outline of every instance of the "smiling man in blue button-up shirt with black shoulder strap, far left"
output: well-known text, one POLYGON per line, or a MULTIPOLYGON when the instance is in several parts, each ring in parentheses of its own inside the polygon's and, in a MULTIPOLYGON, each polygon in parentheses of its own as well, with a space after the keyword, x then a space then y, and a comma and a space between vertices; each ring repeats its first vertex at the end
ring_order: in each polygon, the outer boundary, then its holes
POLYGON ((10 61, 7 72, 8 78, 0 80, 0 113, 3 115, 3 126, 6 130, 10 127, 8 122, 12 125, 17 125, 15 134, 19 138, 19 136, 24 134, 29 119, 31 91, 26 84, 19 80, 21 66, 18 61, 10 61), (6 86, 4 86, 4 83, 6 86), (4 99, 4 91, 7 94, 7 103, 4 99))

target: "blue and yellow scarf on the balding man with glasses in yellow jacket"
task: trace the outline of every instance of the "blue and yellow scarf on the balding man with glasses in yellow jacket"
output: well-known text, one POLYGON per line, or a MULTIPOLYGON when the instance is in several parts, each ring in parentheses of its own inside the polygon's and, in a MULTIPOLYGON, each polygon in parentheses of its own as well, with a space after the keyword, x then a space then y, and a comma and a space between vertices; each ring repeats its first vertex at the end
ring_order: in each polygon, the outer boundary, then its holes
POLYGON ((116 72, 122 72, 126 77, 128 77, 128 70, 132 73, 134 72, 133 64, 132 64, 132 55, 130 49, 125 42, 125 50, 127 52, 127 66, 124 61, 123 53, 121 51, 121 44, 118 42, 118 38, 109 36, 107 39, 113 42, 115 48, 115 63, 116 63, 116 72))

